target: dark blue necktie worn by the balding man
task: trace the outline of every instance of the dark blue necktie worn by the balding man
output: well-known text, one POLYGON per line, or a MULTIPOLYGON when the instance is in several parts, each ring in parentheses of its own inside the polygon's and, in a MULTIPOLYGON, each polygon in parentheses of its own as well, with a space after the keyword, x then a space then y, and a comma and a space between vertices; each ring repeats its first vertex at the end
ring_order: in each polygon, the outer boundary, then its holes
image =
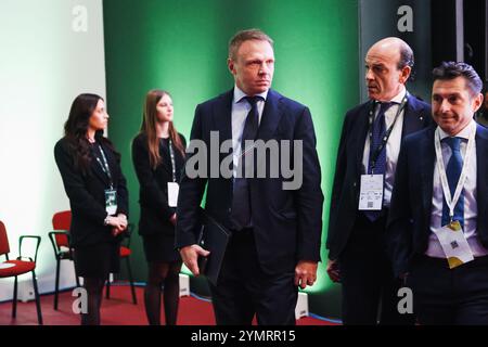
MULTIPOLYGON (((382 102, 380 106, 380 112, 376 118, 373 121, 373 133, 370 142, 370 159, 368 164, 368 174, 374 175, 384 175, 386 172, 386 144, 383 147, 382 152, 376 157, 374 172, 372 166, 373 155, 376 155, 377 149, 383 142, 383 137, 386 132, 386 124, 385 124, 385 112, 393 105, 394 102, 382 102)), ((369 220, 375 221, 382 215, 381 210, 365 210, 364 215, 369 220)))

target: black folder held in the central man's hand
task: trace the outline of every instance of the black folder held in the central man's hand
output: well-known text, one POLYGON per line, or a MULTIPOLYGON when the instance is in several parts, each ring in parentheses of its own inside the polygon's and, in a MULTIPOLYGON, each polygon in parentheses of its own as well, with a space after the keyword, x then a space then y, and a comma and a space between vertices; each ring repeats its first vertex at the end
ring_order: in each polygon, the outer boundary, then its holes
POLYGON ((200 272, 206 275, 211 284, 217 285, 220 268, 226 256, 230 231, 213 217, 204 214, 204 228, 200 245, 210 252, 208 257, 198 258, 200 272))

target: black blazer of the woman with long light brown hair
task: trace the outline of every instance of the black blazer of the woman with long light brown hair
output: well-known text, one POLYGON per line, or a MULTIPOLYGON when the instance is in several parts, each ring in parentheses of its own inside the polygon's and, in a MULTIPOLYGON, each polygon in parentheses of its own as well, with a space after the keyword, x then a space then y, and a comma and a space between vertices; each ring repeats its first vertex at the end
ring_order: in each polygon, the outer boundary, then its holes
MULTIPOLYGON (((185 146, 182 134, 180 138, 185 146)), ((159 145, 162 163, 152 169, 147 149, 147 137, 139 134, 132 141, 132 163, 139 179, 139 204, 141 217, 139 219, 139 233, 151 235, 158 233, 175 234, 175 227, 169 218, 176 208, 168 206, 168 182, 172 182, 172 168, 169 151, 159 145)), ((177 182, 181 177, 184 158, 175 149, 175 164, 177 182)))

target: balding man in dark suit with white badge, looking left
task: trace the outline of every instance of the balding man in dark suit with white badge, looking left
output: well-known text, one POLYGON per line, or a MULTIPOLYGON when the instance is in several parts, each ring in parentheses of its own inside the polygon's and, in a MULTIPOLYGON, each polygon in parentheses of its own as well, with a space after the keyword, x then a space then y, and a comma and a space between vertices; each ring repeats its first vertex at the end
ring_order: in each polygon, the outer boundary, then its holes
POLYGON ((345 324, 376 324, 378 317, 384 324, 413 322, 397 311, 399 283, 384 247, 402 139, 431 123, 429 106, 404 87, 412 66, 413 52, 402 40, 373 44, 365 56, 370 101, 344 120, 326 246, 328 273, 342 283, 345 324))

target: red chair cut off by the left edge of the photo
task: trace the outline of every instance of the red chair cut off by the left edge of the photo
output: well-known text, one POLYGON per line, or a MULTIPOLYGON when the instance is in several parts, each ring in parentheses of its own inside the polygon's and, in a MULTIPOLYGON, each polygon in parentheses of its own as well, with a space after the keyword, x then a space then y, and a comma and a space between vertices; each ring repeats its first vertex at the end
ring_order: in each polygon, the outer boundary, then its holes
POLYGON ((36 307, 37 307, 37 320, 39 325, 42 325, 42 312, 40 307, 40 297, 39 291, 37 287, 37 279, 36 279, 36 261, 37 261, 37 250, 39 249, 41 237, 35 235, 23 235, 18 239, 18 257, 16 260, 9 260, 9 237, 7 236, 5 226, 2 221, 0 221, 0 256, 4 255, 7 261, 0 262, 0 279, 2 278, 15 278, 14 282, 14 293, 13 293, 13 303, 12 303, 12 318, 16 317, 17 313, 17 277, 27 272, 33 272, 33 284, 34 284, 34 293, 36 297, 36 307), (36 240, 36 252, 34 259, 22 257, 22 242, 25 239, 34 239, 36 240), (28 259, 28 260, 23 260, 28 259))

